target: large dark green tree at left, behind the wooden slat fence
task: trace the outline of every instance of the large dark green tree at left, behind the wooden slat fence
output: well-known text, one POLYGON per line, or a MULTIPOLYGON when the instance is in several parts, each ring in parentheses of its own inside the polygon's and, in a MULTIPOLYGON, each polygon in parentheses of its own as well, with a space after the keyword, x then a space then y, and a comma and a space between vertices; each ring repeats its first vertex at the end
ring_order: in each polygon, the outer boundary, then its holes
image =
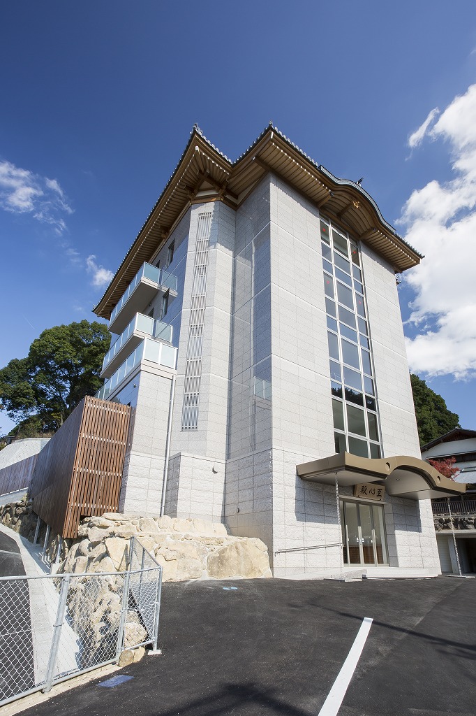
POLYGON ((101 387, 110 341, 106 326, 97 321, 46 329, 26 358, 14 358, 0 370, 1 407, 25 427, 59 427, 85 395, 101 387))

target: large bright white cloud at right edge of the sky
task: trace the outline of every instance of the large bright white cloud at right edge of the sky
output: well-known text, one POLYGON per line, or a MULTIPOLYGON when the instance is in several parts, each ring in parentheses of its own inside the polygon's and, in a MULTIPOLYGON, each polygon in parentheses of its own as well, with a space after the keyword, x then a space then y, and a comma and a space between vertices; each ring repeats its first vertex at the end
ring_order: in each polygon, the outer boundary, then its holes
POLYGON ((412 146, 425 135, 447 141, 453 178, 415 190, 399 220, 406 240, 425 254, 405 274, 415 291, 409 322, 420 329, 407 339, 407 352, 412 371, 470 379, 476 376, 476 84, 432 127, 430 115, 412 135, 412 146))

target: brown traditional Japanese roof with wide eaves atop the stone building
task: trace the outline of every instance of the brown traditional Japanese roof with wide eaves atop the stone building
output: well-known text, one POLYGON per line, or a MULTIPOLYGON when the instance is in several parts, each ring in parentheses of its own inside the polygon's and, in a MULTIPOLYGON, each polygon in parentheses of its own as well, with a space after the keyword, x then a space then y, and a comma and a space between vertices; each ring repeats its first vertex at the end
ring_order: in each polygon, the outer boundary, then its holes
POLYGON ((356 182, 335 177, 276 127, 269 125, 247 151, 232 162, 195 126, 177 168, 94 313, 109 319, 139 267, 167 241, 190 205, 218 200, 236 209, 267 173, 281 178, 314 206, 323 209, 353 238, 380 253, 395 271, 405 271, 420 263, 422 255, 385 221, 365 189, 356 182))

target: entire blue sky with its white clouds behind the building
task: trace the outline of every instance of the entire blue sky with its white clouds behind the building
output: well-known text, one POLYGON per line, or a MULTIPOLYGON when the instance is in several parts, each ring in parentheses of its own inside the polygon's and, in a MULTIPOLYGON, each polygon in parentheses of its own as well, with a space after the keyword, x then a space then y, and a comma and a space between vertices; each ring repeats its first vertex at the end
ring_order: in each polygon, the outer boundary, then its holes
POLYGON ((16 0, 0 60, 0 367, 94 319, 194 122, 234 159, 272 120, 425 253, 410 364, 476 429, 474 0, 16 0))

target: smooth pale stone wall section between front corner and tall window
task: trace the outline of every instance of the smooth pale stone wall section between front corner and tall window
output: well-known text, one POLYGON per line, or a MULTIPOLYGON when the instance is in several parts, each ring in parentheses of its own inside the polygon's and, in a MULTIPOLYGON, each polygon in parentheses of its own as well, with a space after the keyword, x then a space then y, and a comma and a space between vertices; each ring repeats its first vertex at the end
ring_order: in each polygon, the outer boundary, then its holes
POLYGON ((273 448, 334 454, 319 216, 280 180, 271 186, 273 448))

